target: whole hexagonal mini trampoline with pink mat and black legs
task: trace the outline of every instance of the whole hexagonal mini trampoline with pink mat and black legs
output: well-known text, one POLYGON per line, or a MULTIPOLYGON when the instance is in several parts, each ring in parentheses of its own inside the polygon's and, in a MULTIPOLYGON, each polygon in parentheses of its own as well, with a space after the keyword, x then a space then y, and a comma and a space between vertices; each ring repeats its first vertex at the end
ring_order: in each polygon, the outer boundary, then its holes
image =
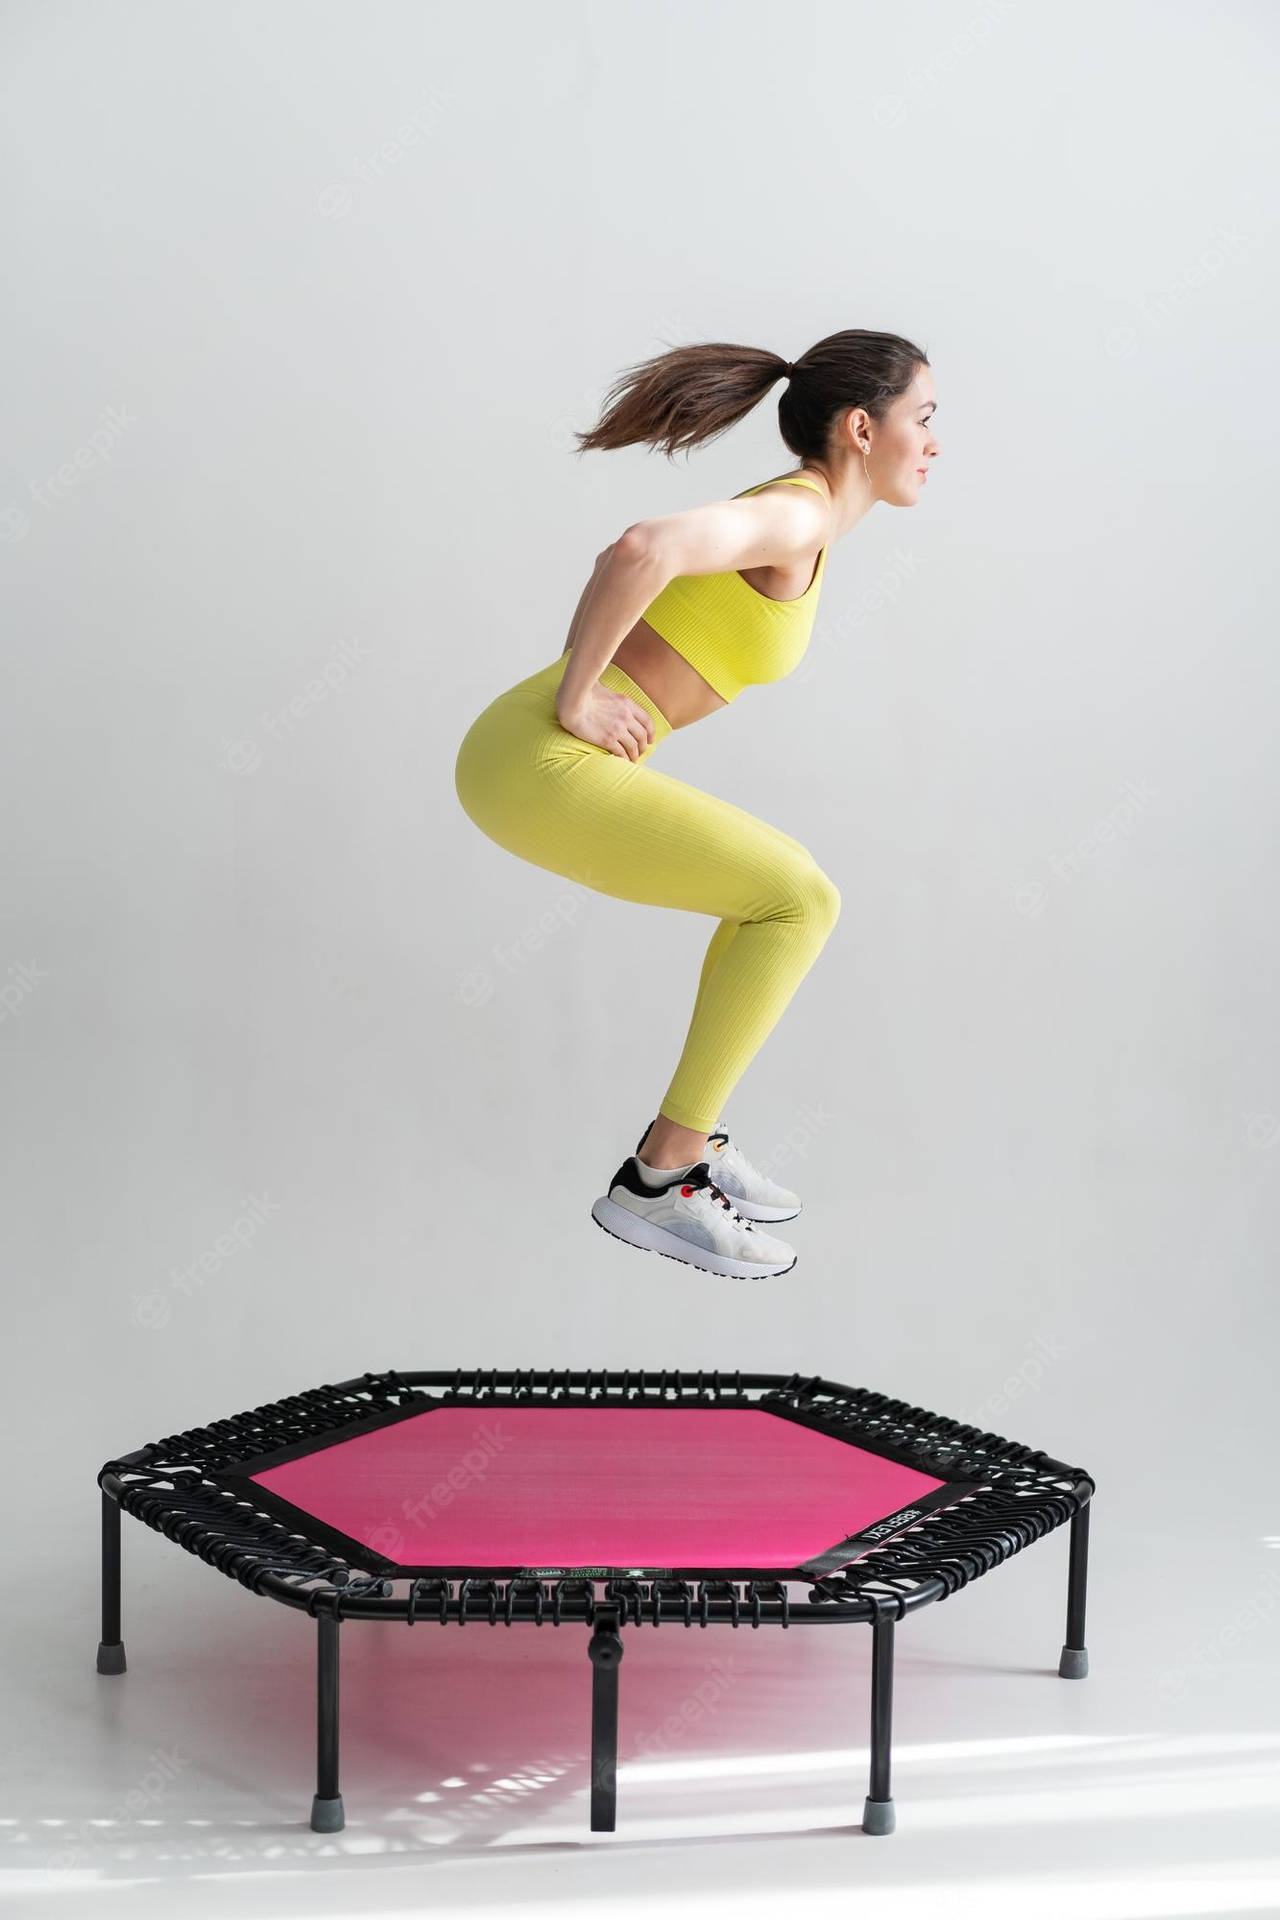
POLYGON ((1071 1521, 1057 1670, 1088 1670, 1092 1476, 818 1377, 365 1373, 152 1442, 98 1484, 100 1672, 125 1670, 121 1509, 315 1617, 317 1832, 344 1826, 342 1620, 585 1624, 597 1832, 616 1824, 629 1628, 869 1622, 869 1834, 894 1826, 892 1634, 906 1613, 1071 1521))

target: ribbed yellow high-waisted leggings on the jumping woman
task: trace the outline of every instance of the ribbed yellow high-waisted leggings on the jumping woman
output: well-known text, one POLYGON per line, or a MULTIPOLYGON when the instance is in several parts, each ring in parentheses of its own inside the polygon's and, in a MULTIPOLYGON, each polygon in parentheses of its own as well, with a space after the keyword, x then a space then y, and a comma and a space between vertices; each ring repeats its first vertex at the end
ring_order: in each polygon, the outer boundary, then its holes
POLYGON ((841 895, 800 841, 649 766, 672 732, 608 660, 601 682, 651 716, 639 760, 560 726, 568 655, 499 693, 455 766, 462 808, 499 847, 553 874, 647 906, 714 914, 685 1046, 658 1112, 710 1133, 731 1089, 818 958, 841 895))

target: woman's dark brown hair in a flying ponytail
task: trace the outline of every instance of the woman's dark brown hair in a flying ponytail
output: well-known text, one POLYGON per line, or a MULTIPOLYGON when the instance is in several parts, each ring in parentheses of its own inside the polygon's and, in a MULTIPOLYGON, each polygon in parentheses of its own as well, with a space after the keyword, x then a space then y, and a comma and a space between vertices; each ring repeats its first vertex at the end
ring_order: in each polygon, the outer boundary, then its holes
POLYGON ((798 361, 785 361, 766 348, 739 348, 708 340, 670 348, 622 372, 608 390, 604 411, 589 432, 576 432, 578 453, 662 447, 697 447, 735 426, 758 405, 775 380, 789 376, 777 403, 777 430, 798 459, 827 451, 833 415, 865 407, 881 420, 898 394, 906 394, 929 355, 900 334, 873 334, 846 326, 808 348, 798 361))

